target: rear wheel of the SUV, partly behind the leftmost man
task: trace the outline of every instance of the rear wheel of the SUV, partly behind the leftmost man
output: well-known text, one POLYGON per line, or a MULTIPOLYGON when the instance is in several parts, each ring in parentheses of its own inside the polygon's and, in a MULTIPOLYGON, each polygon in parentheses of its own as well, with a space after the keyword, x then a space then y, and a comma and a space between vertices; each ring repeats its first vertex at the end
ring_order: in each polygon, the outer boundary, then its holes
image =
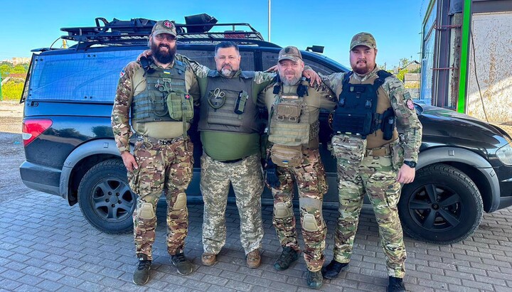
POLYGON ((129 188, 127 170, 119 159, 97 163, 80 180, 78 203, 85 219, 102 232, 133 230, 137 197, 129 188))

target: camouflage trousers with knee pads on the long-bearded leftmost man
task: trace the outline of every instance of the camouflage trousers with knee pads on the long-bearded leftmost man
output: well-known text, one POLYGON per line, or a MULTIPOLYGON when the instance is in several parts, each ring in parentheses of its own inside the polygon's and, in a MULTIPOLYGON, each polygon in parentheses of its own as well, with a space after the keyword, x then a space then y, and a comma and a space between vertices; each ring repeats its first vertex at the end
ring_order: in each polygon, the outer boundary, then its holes
POLYGON ((156 204, 165 189, 167 202, 167 252, 183 252, 188 229, 185 190, 192 178, 193 145, 190 140, 139 138, 134 156, 139 169, 128 173, 130 188, 137 193, 134 211, 134 241, 137 255, 152 259, 155 240, 156 204), (162 143, 163 142, 163 143, 162 143))

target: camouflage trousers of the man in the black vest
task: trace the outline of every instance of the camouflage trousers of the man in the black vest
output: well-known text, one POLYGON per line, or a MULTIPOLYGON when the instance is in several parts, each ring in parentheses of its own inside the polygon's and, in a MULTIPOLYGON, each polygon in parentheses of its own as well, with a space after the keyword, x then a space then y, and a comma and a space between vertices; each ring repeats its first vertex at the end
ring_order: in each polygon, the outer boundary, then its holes
POLYGON ((392 156, 363 157, 363 150, 360 158, 351 157, 357 152, 348 149, 351 141, 340 144, 336 143, 337 138, 333 137, 332 144, 337 157, 340 204, 334 237, 334 259, 341 263, 348 263, 351 259, 353 240, 366 193, 378 223, 380 245, 387 259, 388 275, 403 278, 407 254, 397 208, 401 185, 396 181, 398 173, 396 166, 393 166, 392 156), (343 156, 344 151, 350 153, 343 156))

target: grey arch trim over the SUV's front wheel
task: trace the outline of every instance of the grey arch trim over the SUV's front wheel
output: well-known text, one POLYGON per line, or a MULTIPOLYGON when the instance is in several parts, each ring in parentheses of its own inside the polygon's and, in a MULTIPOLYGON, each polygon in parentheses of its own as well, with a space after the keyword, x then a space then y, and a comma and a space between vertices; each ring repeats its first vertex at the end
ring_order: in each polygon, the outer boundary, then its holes
POLYGON ((478 154, 457 147, 438 147, 420 152, 417 170, 434 163, 444 163, 468 175, 479 188, 485 212, 494 212, 500 202, 499 181, 489 161, 478 154))

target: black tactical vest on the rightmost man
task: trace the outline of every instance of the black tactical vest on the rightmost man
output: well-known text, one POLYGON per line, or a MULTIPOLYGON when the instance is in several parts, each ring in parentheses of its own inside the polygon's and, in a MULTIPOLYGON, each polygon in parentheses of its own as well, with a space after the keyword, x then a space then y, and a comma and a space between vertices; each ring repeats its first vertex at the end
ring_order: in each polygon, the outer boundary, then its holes
POLYGON ((357 85, 349 83, 351 75, 352 72, 348 72, 343 77, 343 87, 332 123, 334 132, 361 135, 366 139, 368 134, 381 129, 384 133, 383 139, 392 139, 396 124, 393 108, 388 108, 382 114, 376 111, 378 88, 391 73, 379 70, 373 84, 357 85))

